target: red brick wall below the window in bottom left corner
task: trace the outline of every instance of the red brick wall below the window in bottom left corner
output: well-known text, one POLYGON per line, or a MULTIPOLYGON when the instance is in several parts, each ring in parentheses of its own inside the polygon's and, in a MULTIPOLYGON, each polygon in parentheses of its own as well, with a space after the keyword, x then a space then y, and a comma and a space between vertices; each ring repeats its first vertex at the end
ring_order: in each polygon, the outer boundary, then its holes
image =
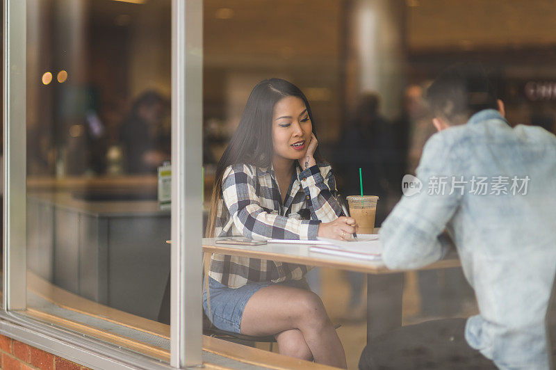
POLYGON ((0 335, 2 370, 88 370, 75 362, 0 335))

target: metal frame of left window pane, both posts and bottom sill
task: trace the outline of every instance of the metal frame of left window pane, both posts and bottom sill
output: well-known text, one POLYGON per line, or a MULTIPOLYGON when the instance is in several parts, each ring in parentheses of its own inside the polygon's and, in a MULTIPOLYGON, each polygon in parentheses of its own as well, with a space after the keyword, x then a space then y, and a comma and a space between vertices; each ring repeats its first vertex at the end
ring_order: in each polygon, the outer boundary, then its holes
MULTIPOLYGON (((172 0, 170 367, 202 364, 202 0, 172 0)), ((26 1, 3 0, 3 310, 0 333, 101 369, 169 368, 26 318, 26 1)))

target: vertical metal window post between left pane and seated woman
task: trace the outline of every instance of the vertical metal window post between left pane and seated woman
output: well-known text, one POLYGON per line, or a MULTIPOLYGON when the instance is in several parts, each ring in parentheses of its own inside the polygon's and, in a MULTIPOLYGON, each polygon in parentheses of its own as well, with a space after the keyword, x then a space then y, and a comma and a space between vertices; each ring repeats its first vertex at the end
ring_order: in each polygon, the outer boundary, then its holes
POLYGON ((172 0, 170 364, 202 364, 202 0, 172 0))

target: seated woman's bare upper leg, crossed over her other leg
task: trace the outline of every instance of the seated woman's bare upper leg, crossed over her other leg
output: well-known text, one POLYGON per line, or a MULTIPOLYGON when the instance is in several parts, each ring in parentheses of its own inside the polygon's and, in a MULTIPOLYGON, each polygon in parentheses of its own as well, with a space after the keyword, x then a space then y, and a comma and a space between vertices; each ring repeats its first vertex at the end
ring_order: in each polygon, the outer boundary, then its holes
MULTIPOLYGON (((311 291, 271 285, 247 301, 241 319, 245 335, 274 335, 298 329, 315 362, 346 367, 345 353, 319 296, 311 291)), ((284 344, 283 344, 284 346, 284 344)))

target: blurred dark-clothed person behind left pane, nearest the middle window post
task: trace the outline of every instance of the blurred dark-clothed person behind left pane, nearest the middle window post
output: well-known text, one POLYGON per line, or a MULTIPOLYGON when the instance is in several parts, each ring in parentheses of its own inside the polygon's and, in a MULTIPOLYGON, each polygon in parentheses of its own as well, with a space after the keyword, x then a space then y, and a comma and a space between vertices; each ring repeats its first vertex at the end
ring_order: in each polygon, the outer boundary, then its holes
POLYGON ((170 131, 164 120, 168 102, 156 91, 146 91, 133 102, 120 127, 127 173, 156 173, 163 161, 170 161, 170 131))

